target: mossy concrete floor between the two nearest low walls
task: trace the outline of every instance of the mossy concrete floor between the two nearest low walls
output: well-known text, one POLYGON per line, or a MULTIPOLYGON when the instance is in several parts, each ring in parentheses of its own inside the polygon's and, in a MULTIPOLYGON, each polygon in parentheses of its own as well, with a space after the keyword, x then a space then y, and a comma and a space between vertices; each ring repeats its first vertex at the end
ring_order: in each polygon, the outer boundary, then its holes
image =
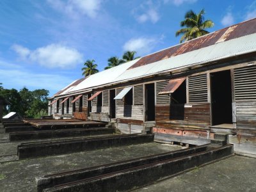
POLYGON ((178 145, 144 143, 61 156, 0 163, 1 191, 36 191, 35 177, 179 150, 178 145))

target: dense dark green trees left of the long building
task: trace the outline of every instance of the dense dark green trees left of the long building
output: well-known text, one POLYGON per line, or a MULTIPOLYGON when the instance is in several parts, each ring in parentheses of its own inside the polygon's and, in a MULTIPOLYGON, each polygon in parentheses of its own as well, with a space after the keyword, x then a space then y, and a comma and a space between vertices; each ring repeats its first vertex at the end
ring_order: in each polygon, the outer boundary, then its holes
POLYGON ((18 92, 15 89, 8 90, 0 86, 0 96, 10 102, 8 106, 4 107, 3 114, 6 115, 13 111, 28 118, 47 115, 48 95, 49 91, 45 89, 29 91, 24 87, 18 92))

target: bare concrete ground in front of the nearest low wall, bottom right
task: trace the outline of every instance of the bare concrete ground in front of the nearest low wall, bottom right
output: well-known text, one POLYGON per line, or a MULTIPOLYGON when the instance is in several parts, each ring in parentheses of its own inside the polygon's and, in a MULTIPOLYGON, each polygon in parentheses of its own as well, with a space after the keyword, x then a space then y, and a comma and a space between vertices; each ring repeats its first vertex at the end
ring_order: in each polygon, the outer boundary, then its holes
POLYGON ((255 164, 256 159, 232 156, 134 191, 256 191, 255 164))

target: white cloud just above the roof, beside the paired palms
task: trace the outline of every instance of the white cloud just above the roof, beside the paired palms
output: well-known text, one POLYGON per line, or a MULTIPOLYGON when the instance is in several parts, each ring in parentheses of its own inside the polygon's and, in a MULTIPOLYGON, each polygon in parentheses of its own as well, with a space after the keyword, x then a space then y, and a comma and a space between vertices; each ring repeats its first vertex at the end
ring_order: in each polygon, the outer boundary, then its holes
POLYGON ((124 44, 123 49, 124 51, 136 51, 140 56, 143 56, 150 53, 157 42, 155 38, 132 38, 124 44))

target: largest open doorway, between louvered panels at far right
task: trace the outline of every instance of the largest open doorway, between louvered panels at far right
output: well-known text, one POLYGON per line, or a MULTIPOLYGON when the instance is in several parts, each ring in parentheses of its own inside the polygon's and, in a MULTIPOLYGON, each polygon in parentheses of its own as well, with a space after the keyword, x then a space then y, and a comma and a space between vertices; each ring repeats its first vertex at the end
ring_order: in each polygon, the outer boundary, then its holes
POLYGON ((211 73, 212 125, 232 124, 230 70, 211 73))

